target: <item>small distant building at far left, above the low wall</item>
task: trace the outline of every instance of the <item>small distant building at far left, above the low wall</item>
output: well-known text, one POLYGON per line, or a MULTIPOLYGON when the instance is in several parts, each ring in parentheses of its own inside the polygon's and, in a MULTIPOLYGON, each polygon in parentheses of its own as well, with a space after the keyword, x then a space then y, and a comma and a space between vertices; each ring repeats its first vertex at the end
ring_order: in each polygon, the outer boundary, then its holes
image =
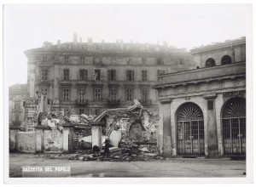
POLYGON ((24 103, 27 96, 26 84, 9 87, 9 125, 20 126, 25 120, 24 103))

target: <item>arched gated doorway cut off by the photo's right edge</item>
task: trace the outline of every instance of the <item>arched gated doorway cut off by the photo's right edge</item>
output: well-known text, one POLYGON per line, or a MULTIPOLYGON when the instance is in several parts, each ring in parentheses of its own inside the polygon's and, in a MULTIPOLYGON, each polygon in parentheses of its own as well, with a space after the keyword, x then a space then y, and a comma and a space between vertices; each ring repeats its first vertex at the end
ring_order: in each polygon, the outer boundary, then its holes
POLYGON ((224 155, 246 153, 246 99, 228 100, 222 112, 224 155))

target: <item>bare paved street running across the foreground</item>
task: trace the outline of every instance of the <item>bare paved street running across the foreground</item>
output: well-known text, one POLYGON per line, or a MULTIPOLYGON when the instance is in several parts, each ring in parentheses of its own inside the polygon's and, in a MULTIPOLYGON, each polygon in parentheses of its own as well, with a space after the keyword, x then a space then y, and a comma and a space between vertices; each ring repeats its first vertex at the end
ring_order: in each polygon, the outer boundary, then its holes
POLYGON ((173 158, 165 161, 79 161, 10 154, 10 177, 21 177, 21 166, 67 166, 71 177, 245 177, 246 161, 173 158))

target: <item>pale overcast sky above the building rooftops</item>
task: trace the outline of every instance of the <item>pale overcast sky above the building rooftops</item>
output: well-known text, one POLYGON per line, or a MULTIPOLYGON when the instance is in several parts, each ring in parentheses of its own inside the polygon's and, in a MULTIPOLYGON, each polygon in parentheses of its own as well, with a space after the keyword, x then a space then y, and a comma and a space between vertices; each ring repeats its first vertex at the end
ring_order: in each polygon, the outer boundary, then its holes
POLYGON ((3 9, 4 79, 26 83, 26 56, 44 41, 166 41, 187 50, 246 36, 245 4, 6 5, 3 9))

